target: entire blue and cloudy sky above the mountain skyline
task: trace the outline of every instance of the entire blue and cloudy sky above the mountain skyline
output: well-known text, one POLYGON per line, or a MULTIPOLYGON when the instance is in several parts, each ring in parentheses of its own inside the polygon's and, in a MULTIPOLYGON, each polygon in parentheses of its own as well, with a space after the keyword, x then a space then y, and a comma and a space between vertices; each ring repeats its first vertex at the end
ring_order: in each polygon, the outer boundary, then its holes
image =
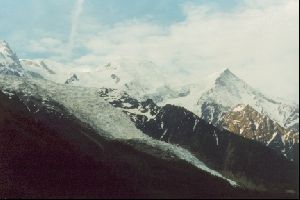
POLYGON ((298 35, 298 0, 0 0, 0 39, 20 58, 148 60, 193 80, 229 68, 297 102, 298 35))

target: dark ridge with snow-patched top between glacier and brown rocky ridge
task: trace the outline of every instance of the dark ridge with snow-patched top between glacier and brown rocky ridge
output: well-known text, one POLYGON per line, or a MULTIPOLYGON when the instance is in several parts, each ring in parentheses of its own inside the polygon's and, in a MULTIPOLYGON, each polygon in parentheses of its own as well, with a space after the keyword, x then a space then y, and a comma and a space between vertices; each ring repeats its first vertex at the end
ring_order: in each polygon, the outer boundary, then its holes
POLYGON ((255 190, 288 190, 295 180, 297 161, 291 163, 262 144, 220 130, 183 107, 160 107, 150 99, 138 101, 115 89, 100 89, 99 95, 130 116, 145 134, 188 149, 239 185, 255 190))

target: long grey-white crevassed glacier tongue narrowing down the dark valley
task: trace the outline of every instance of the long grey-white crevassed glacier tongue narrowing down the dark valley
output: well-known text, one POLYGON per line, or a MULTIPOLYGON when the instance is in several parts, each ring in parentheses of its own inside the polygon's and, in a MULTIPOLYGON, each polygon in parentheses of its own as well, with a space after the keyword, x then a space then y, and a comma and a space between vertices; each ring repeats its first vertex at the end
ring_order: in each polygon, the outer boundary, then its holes
POLYGON ((105 100, 99 98, 97 89, 70 87, 54 82, 37 79, 24 79, 0 75, 0 90, 6 92, 22 92, 28 96, 41 96, 64 105, 81 121, 90 124, 99 134, 110 139, 135 139, 146 142, 162 151, 172 152, 176 157, 185 160, 199 169, 228 181, 237 186, 235 181, 223 177, 219 172, 208 168, 186 149, 150 138, 139 131, 129 117, 113 108, 105 100))

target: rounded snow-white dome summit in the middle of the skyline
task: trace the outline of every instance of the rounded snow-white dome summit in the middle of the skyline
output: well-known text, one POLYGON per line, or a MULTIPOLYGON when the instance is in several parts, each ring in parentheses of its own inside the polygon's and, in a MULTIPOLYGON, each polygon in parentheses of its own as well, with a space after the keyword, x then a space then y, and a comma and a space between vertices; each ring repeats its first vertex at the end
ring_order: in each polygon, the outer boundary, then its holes
MULTIPOLYGON (((141 60, 113 60, 89 72, 76 72, 76 76, 76 81, 66 83, 85 87, 120 89, 136 98, 153 94, 165 86, 165 78, 157 70, 157 66, 153 62, 141 60)), ((68 80, 71 79, 70 76, 68 80)))

